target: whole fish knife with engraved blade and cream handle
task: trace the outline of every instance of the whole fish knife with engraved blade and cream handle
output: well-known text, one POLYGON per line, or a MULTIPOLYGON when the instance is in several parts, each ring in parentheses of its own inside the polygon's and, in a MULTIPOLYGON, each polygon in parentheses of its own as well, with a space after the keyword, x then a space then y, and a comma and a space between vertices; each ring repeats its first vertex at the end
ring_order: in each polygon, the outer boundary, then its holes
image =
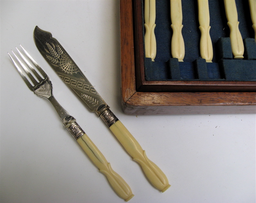
POLYGON ((38 50, 51 68, 56 71, 90 111, 95 112, 104 120, 125 150, 140 164, 152 185, 162 192, 167 190, 170 185, 166 175, 154 162, 147 158, 145 150, 142 149, 134 136, 109 109, 107 103, 105 103, 57 39, 53 38, 51 33, 43 31, 38 26, 34 30, 33 37, 38 50))

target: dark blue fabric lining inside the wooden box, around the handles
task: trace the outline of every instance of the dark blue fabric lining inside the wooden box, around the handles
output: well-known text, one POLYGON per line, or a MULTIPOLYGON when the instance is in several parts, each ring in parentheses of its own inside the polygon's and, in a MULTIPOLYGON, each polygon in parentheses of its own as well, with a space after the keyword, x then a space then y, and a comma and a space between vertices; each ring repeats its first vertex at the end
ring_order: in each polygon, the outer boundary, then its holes
MULTIPOLYGON (((142 18, 144 18, 143 5, 142 0, 142 18)), ((145 58, 145 79, 147 81, 256 81, 256 42, 248 1, 236 0, 236 7, 240 22, 239 30, 245 46, 244 59, 233 59, 224 1, 209 0, 210 36, 214 57, 213 63, 206 63, 205 59, 200 57, 197 0, 182 0, 185 57, 184 62, 179 62, 178 59, 171 58, 170 0, 157 0, 155 28, 157 52, 154 62, 145 58)))

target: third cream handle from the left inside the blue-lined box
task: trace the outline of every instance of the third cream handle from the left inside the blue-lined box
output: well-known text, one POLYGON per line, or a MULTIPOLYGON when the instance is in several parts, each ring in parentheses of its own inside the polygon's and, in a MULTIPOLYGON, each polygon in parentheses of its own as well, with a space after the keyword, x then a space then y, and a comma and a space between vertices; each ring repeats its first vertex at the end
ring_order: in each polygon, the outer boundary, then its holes
POLYGON ((208 0, 197 0, 198 3, 198 21, 201 32, 200 55, 206 62, 212 62, 213 49, 210 36, 210 14, 208 0))

